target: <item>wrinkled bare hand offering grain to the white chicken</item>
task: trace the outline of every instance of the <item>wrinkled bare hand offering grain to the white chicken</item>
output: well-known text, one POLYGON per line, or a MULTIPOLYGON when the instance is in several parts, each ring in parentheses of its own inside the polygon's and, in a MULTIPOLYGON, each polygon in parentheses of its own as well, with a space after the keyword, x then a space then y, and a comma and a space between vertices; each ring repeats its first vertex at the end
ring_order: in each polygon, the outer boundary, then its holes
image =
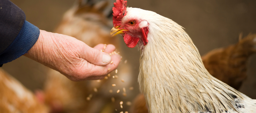
POLYGON ((99 44, 91 48, 71 36, 40 30, 38 41, 24 56, 59 71, 72 81, 95 80, 103 79, 120 62, 120 55, 107 54, 114 51, 115 46, 107 45, 106 53, 100 51, 103 47, 99 44))

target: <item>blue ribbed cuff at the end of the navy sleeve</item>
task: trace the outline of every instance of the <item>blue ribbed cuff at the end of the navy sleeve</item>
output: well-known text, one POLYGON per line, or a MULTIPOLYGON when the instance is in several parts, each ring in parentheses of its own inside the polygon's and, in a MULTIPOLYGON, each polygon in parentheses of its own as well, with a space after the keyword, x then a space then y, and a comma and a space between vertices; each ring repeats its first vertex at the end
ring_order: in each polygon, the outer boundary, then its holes
POLYGON ((0 67, 27 53, 37 42, 40 31, 39 28, 25 21, 15 40, 0 53, 0 67))

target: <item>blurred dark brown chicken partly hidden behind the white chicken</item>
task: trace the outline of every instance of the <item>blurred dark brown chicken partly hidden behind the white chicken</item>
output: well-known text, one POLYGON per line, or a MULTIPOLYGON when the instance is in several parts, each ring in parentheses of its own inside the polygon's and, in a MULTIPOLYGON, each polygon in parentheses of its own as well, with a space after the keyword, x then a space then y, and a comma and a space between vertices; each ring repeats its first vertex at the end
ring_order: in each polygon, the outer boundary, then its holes
MULTIPOLYGON (((248 57, 256 52, 256 34, 240 38, 237 44, 214 49, 202 57, 207 71, 215 78, 238 89, 247 77, 246 64, 248 57)), ((146 100, 139 94, 130 109, 131 113, 148 113, 146 100)))

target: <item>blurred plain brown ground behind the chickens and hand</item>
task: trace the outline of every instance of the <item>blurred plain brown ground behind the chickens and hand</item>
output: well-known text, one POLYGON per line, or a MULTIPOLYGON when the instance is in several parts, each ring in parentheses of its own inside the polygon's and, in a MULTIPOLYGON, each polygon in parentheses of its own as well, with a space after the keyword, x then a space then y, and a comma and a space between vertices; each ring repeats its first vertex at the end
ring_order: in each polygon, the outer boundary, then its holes
MULTIPOLYGON (((63 14, 75 0, 11 0, 26 14, 26 20, 42 30, 53 32, 63 14)), ((154 11, 176 21, 185 28, 203 55, 208 51, 238 41, 238 34, 256 33, 256 0, 128 0, 129 7, 154 11)), ((128 61, 133 62, 138 74, 139 51, 127 50, 128 61)), ((256 55, 248 60, 248 78, 239 91, 256 99, 256 55)), ((20 57, 4 70, 34 91, 42 88, 47 67, 20 57)), ((137 81, 135 81, 137 84, 137 81)), ((137 90, 138 91, 138 90, 137 90)))

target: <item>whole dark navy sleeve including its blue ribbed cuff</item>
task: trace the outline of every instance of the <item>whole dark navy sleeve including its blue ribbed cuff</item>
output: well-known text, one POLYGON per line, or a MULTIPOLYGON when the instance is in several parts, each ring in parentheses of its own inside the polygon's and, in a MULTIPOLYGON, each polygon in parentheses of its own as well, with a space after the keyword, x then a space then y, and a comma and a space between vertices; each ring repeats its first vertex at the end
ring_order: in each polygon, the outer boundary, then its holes
POLYGON ((27 53, 38 40, 39 28, 9 0, 0 0, 0 67, 27 53))

